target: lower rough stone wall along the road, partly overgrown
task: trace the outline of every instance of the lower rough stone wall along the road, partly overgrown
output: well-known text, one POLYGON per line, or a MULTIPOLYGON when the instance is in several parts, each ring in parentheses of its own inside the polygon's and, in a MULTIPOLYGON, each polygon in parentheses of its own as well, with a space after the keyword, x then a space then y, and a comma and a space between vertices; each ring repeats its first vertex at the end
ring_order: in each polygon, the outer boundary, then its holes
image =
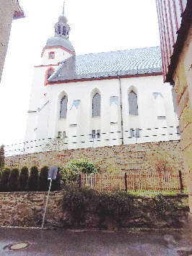
MULTIPOLYGON (((74 222, 68 213, 64 213, 61 208, 63 192, 51 192, 48 201, 48 210, 45 216, 45 225, 64 227, 74 227, 74 222)), ((47 192, 7 192, 0 193, 0 226, 40 226, 43 218, 47 192)), ((154 217, 150 208, 137 210, 134 216, 118 216, 118 222, 111 216, 105 219, 95 211, 94 207, 85 213, 84 228, 183 228, 188 225, 188 197, 187 195, 166 196, 167 201, 176 202, 178 210, 173 216, 166 213, 166 218, 161 220, 154 217)), ((133 196, 134 203, 146 205, 149 197, 133 196)))

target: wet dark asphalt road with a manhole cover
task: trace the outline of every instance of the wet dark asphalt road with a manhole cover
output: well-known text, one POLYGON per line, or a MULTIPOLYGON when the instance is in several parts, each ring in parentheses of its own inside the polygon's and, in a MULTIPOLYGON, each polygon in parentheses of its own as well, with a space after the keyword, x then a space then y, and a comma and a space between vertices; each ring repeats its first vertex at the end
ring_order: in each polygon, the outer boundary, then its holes
POLYGON ((187 230, 69 231, 0 228, 0 255, 192 255, 187 230), (27 244, 24 249, 19 244, 27 244), (5 248, 5 249, 4 249, 5 248))

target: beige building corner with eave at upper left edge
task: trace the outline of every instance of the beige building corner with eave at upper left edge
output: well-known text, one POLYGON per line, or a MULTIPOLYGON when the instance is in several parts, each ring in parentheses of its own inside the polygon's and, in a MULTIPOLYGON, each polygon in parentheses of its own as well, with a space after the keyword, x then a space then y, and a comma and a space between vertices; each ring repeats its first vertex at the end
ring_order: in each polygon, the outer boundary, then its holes
POLYGON ((25 16, 17 0, 0 0, 0 82, 4 69, 12 20, 22 17, 25 16))

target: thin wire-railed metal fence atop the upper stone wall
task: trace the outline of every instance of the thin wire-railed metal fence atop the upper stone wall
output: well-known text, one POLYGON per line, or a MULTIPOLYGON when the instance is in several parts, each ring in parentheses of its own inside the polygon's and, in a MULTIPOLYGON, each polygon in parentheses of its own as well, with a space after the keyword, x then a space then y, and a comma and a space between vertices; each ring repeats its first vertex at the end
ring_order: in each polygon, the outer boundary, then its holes
POLYGON ((38 140, 19 142, 11 145, 5 145, 4 152, 6 156, 22 155, 25 153, 45 152, 53 150, 67 150, 73 148, 94 148, 105 145, 128 145, 143 142, 156 142, 179 140, 180 132, 178 127, 156 127, 137 130, 133 129, 117 132, 100 132, 97 134, 74 135, 61 137, 48 137, 38 140))

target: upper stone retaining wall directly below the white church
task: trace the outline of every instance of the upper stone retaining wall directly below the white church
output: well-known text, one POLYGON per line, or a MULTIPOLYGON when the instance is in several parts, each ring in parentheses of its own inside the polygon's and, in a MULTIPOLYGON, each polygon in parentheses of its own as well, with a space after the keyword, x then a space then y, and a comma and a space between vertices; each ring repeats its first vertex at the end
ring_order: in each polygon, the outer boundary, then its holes
MULTIPOLYGON (((97 163, 102 171, 114 168, 126 168, 126 161, 131 151, 144 150, 146 152, 141 168, 150 168, 149 158, 155 153, 165 153, 175 161, 175 170, 183 170, 183 157, 180 141, 150 142, 134 145, 119 145, 102 148, 86 148, 77 150, 61 150, 44 153, 32 153, 26 155, 14 155, 6 157, 6 167, 27 166, 62 166, 71 160, 87 159, 97 163)), ((136 153, 135 153, 136 155, 136 153)))

